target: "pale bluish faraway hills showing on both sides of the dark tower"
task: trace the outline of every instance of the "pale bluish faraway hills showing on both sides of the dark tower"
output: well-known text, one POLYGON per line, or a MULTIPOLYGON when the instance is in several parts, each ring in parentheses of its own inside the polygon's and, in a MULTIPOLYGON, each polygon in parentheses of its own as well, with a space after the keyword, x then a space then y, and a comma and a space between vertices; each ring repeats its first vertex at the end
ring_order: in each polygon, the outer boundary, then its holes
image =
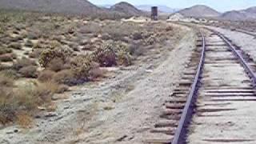
MULTIPOLYGON (((139 10, 143 10, 143 11, 151 11, 151 6, 153 5, 139 5, 136 6, 139 10)), ((158 10, 162 13, 168 13, 168 14, 172 14, 178 11, 178 9, 173 9, 170 8, 168 6, 162 6, 162 5, 158 5, 158 10)))

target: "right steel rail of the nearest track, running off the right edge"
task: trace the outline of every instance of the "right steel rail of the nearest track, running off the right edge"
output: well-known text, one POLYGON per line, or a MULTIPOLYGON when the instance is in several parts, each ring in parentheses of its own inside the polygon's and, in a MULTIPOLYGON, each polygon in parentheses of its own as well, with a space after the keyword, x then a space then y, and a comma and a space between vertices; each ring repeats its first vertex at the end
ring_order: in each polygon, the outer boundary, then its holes
POLYGON ((254 71, 250 68, 250 66, 246 63, 246 60, 242 57, 242 54, 239 53, 239 51, 235 49, 235 47, 231 44, 231 42, 224 35, 222 35, 220 33, 217 33, 217 34, 230 47, 230 50, 232 50, 234 55, 239 59, 239 62, 245 68, 246 72, 249 74, 250 78, 252 79, 252 81, 255 84, 255 82, 256 82, 256 75, 254 74, 254 71))

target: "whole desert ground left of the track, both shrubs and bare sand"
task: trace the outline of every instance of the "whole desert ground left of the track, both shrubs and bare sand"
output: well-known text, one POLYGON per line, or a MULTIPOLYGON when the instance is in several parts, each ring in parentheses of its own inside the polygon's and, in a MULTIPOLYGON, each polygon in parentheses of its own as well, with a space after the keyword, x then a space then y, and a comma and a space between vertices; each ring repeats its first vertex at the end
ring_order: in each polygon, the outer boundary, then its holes
POLYGON ((1 15, 2 143, 140 143, 194 49, 164 21, 1 15))

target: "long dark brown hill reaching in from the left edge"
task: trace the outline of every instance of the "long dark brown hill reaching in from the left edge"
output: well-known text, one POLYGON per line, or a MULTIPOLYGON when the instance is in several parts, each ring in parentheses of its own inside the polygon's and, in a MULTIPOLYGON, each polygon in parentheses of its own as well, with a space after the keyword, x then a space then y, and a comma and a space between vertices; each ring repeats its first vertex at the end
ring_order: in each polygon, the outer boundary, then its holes
POLYGON ((0 9, 32 10, 64 14, 98 14, 108 10, 87 0, 0 0, 0 9))

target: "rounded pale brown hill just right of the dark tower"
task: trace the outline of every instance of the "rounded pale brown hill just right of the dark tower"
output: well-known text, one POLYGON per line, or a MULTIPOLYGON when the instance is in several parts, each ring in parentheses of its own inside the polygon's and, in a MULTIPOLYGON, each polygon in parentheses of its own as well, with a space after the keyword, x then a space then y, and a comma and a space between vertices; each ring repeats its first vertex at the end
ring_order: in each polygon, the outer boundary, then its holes
POLYGON ((218 17, 220 13, 209 6, 196 5, 179 11, 186 17, 218 17))

